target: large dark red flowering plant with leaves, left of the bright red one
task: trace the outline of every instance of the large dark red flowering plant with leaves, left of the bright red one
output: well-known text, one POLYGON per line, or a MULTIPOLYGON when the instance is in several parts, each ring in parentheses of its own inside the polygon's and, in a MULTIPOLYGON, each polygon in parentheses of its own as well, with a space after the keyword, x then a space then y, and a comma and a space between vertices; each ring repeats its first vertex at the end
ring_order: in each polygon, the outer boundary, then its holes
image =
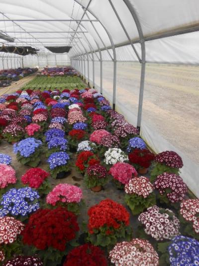
POLYGON ((31 246, 28 251, 36 253, 44 266, 56 266, 75 244, 78 231, 77 217, 58 207, 32 214, 21 235, 23 244, 31 246))

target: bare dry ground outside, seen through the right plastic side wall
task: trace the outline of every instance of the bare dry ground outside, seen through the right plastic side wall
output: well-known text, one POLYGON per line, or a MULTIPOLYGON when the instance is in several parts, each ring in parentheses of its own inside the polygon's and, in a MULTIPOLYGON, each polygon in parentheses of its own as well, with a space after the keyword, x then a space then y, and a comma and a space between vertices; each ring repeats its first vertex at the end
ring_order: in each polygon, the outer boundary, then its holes
MULTIPOLYGON (((129 117, 137 115, 140 69, 117 63, 116 105, 129 117)), ((103 62, 103 73, 103 90, 112 99, 112 63, 103 62)), ((142 123, 199 164, 199 66, 147 64, 142 123)))

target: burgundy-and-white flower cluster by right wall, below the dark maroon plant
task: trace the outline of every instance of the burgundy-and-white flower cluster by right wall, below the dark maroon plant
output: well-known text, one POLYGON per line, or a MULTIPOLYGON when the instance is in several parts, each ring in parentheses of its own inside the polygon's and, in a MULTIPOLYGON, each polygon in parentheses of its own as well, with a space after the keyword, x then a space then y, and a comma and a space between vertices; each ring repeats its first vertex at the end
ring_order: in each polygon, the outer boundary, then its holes
POLYGON ((161 195, 166 193, 172 203, 182 201, 187 193, 187 185, 176 174, 163 173, 157 176, 154 185, 161 195))

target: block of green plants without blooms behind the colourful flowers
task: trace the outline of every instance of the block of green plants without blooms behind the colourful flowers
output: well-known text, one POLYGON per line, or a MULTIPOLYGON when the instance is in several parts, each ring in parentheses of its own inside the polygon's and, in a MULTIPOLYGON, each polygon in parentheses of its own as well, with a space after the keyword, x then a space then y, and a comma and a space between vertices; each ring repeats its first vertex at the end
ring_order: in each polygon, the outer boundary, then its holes
POLYGON ((85 85, 77 76, 37 76, 29 81, 22 89, 39 89, 40 91, 45 91, 57 88, 62 91, 66 87, 71 90, 77 87, 84 88, 85 85))

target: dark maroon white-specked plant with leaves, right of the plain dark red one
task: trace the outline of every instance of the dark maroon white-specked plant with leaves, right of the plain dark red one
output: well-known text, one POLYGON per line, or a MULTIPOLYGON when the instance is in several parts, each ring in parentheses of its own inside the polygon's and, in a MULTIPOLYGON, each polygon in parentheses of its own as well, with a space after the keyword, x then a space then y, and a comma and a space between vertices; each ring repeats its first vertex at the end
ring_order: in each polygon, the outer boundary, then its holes
POLYGON ((167 173, 179 175, 180 168, 183 167, 182 158, 174 151, 161 152, 155 155, 153 169, 151 171, 151 182, 154 182, 156 177, 167 173))

